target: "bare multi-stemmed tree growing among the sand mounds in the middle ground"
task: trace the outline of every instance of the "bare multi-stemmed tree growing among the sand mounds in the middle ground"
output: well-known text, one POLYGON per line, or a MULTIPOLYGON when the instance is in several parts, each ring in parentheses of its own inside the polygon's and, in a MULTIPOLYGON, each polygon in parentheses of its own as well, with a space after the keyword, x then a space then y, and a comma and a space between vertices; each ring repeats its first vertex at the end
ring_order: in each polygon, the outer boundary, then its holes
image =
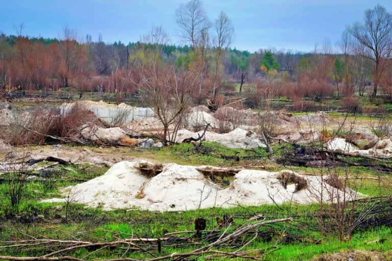
POLYGON ((142 100, 151 106, 163 126, 162 143, 168 145, 176 140, 181 119, 192 101, 192 91, 198 77, 189 71, 178 72, 175 66, 162 60, 163 44, 169 42, 161 27, 141 39, 149 44, 143 50, 144 62, 139 67, 137 83, 142 100))

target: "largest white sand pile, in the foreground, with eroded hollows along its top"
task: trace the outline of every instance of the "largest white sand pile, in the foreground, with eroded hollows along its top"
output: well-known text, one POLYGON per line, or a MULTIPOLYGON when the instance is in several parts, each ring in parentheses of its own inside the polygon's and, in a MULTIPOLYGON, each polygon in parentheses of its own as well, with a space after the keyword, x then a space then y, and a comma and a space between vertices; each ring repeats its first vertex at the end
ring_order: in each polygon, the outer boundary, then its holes
MULTIPOLYGON (((302 176, 292 171, 242 170, 235 174, 230 186, 223 189, 198 171, 211 167, 197 168, 166 164, 162 166, 162 172, 149 178, 139 170, 141 163, 153 166, 148 162, 117 163, 100 177, 75 187, 65 188, 64 196, 69 195, 72 201, 85 203, 88 206, 102 205, 105 210, 138 207, 150 211, 230 207, 237 203, 242 205, 282 204, 290 201, 313 203, 321 199, 321 177, 302 176), (299 187, 300 184, 302 187, 299 187)), ((344 193, 326 182, 323 182, 323 186, 324 201, 330 201, 338 193, 344 193)), ((355 192, 346 190, 346 197, 354 198, 355 192)), ((62 201, 64 199, 45 200, 45 202, 62 201)))

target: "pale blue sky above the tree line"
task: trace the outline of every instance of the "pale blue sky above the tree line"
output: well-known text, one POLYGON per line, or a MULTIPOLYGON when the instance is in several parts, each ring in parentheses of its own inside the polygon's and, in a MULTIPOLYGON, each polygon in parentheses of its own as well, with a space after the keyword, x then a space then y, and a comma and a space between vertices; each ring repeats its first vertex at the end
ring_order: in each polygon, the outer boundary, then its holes
MULTIPOLYGON (((161 25, 174 44, 185 44, 175 11, 186 0, 0 0, 0 32, 61 37, 67 24, 79 39, 136 42, 161 25)), ((254 52, 260 48, 312 51, 330 41, 335 45, 346 25, 363 21, 366 9, 382 5, 392 13, 391 0, 204 0, 211 21, 224 11, 234 25, 231 47, 254 52)))

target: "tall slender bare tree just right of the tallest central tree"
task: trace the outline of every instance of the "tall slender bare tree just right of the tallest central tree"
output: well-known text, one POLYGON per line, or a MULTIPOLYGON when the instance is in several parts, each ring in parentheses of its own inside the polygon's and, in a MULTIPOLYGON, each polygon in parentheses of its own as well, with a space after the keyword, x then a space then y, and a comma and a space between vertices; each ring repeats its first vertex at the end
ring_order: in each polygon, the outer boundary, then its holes
POLYGON ((219 75, 221 72, 220 58, 222 57, 223 51, 225 51, 231 43, 231 37, 234 32, 233 24, 225 12, 220 11, 218 19, 215 20, 214 30, 216 32, 216 56, 215 56, 215 69, 213 77, 213 89, 212 89, 212 103, 215 102, 216 90, 219 86, 219 75))

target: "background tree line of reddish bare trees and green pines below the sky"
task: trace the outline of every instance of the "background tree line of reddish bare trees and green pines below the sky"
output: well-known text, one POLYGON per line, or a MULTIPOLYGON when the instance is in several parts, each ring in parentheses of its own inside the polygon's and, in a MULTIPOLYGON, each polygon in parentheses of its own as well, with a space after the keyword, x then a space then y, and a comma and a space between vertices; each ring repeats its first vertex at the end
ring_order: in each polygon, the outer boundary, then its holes
POLYGON ((183 45, 171 42, 164 29, 153 28, 140 41, 105 43, 100 35, 83 39, 67 26, 62 37, 0 34, 0 87, 13 90, 139 92, 146 64, 192 73, 198 101, 215 101, 223 88, 255 91, 290 98, 348 96, 392 98, 392 16, 380 5, 364 12, 362 23, 348 26, 336 46, 328 41, 312 53, 259 49, 254 53, 231 48, 233 24, 225 12, 210 20, 200 0, 176 10, 183 45), (157 59, 151 59, 151 51, 157 59), (159 59, 158 59, 159 57, 159 59), (230 84, 229 84, 230 83, 230 84), (239 89, 236 88, 239 84, 239 89), (244 84, 248 84, 245 88, 244 84))

